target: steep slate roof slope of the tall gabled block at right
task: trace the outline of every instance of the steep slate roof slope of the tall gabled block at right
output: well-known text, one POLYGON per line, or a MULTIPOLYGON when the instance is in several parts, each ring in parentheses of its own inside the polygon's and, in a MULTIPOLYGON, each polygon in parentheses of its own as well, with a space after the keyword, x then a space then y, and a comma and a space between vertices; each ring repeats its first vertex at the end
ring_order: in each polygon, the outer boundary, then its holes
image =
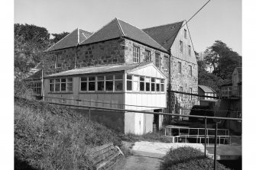
POLYGON ((165 24, 157 27, 149 27, 142 29, 145 33, 151 36, 157 43, 163 45, 166 50, 170 50, 173 45, 173 41, 177 37, 177 34, 182 26, 183 21, 173 24, 165 24))

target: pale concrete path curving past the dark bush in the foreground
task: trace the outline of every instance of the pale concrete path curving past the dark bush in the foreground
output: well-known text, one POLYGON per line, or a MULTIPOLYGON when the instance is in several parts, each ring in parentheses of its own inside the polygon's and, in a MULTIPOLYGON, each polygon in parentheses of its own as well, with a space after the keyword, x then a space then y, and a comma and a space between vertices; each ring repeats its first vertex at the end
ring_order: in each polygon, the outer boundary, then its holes
MULTIPOLYGON (((114 169, 157 170, 167 151, 170 148, 177 148, 180 146, 191 146, 204 152, 203 144, 198 143, 155 143, 141 141, 134 143, 134 146, 131 149, 133 156, 128 156, 128 158, 123 159, 114 169)), ((206 147, 206 154, 213 159, 213 145, 206 147)), ((239 157, 241 157, 241 146, 217 146, 217 160, 233 160, 238 159, 239 157)))

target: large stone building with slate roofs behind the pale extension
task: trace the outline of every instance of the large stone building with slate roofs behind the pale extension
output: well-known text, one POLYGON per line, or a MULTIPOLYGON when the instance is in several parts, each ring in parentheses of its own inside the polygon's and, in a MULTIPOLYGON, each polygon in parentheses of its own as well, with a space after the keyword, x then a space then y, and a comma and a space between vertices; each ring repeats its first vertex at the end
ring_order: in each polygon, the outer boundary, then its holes
MULTIPOLYGON (((49 79, 50 75, 73 69, 153 63, 157 72, 166 79, 165 107, 158 109, 189 114, 186 109, 197 103, 197 97, 193 95, 173 92, 197 94, 198 91, 196 56, 186 21, 141 30, 115 18, 94 34, 77 28, 46 50, 46 53, 44 77, 49 79)), ((141 72, 142 75, 144 72, 141 72)), ((126 77, 124 79, 127 80, 126 77)), ((134 79, 132 85, 137 83, 134 79)), ((49 85, 44 82, 44 86, 49 85)), ((47 97, 49 91, 44 91, 45 87, 42 89, 42 94, 47 97)), ((61 96, 61 92, 57 91, 57 94, 61 96)))

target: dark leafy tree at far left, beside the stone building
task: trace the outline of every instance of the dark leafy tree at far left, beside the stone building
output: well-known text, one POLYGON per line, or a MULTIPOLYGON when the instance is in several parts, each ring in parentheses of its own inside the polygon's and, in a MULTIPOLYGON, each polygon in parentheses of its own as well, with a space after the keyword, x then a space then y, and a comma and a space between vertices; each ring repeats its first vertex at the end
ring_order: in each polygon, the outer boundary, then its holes
POLYGON ((46 28, 15 24, 15 79, 24 79, 26 73, 41 62, 44 50, 50 44, 46 28))

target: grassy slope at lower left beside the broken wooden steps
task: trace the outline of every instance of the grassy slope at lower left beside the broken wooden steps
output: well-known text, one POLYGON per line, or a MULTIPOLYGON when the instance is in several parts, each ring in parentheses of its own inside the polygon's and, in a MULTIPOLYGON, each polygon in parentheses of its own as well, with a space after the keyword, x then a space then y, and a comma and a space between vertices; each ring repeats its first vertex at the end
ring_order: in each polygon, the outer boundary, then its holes
POLYGON ((92 169, 86 152, 121 146, 106 127, 62 106, 15 99, 15 169, 92 169))

